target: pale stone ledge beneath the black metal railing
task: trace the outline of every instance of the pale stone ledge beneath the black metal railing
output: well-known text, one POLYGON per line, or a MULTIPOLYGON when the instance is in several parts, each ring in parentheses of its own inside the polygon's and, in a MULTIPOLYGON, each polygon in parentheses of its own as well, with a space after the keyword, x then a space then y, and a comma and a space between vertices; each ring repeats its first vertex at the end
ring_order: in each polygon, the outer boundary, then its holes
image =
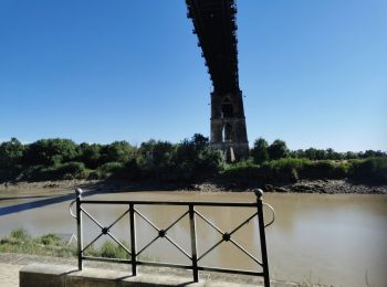
POLYGON ((176 275, 139 274, 130 276, 127 272, 85 268, 74 266, 31 264, 20 270, 20 287, 252 287, 257 285, 226 281, 194 283, 191 277, 176 275))

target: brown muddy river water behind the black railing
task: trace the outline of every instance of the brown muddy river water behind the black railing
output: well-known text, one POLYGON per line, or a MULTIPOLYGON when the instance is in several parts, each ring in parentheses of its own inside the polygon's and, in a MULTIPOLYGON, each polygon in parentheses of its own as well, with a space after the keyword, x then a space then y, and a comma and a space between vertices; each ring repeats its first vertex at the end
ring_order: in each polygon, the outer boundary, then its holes
MULTIPOLYGON (((39 195, 39 194, 35 194, 39 195)), ((43 194, 41 194, 43 195, 43 194)), ((87 196, 103 200, 156 200, 156 201, 254 201, 252 193, 190 193, 190 192, 128 192, 87 196)), ((0 235, 23 227, 33 235, 44 233, 75 233, 75 220, 69 214, 69 198, 57 203, 44 202, 46 198, 11 199, 0 195, 0 235), (11 208, 12 206, 12 208, 11 208), (19 209, 19 210, 18 210, 19 209)), ((264 194, 264 202, 276 212, 273 225, 266 228, 271 277, 291 281, 322 283, 333 286, 387 286, 387 195, 323 195, 323 194, 264 194)), ((102 224, 108 225, 125 206, 86 205, 85 209, 102 224)), ((138 206, 138 210, 164 228, 171 224, 187 208, 138 206)), ((223 231, 231 231, 244 221, 252 209, 198 208, 198 211, 223 231)), ((271 214, 265 212, 265 222, 271 214)), ((85 220, 85 244, 98 234, 98 228, 85 220)), ((137 217, 138 249, 157 234, 137 217)), ((197 220, 198 252, 207 251, 220 238, 202 220, 197 220)), ((112 233, 129 241, 128 216, 123 217, 112 233)), ((168 231, 168 236, 190 252, 188 217, 168 231)), ((239 230, 234 237, 257 257, 260 257, 257 219, 239 230)), ((97 244, 104 242, 98 240, 97 244)), ((147 249, 147 256, 170 263, 187 263, 166 240, 156 241, 147 249)), ((206 256, 202 265, 259 269, 238 248, 222 243, 206 256)))

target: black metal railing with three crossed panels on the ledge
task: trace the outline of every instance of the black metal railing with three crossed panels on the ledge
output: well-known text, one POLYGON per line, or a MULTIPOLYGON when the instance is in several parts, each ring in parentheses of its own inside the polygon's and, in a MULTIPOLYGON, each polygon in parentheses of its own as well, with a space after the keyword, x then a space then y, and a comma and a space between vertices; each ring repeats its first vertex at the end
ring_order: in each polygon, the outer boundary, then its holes
POLYGON ((98 262, 113 262, 113 263, 125 263, 132 265, 132 274, 133 276, 137 275, 137 266, 138 265, 147 265, 147 266, 161 266, 161 267, 172 267, 172 268, 182 268, 182 269, 191 269, 194 281, 199 280, 199 272, 220 272, 220 273, 230 273, 230 274, 242 274, 242 275, 253 275, 263 277, 264 286, 270 286, 270 277, 269 277, 269 264, 268 264, 268 252, 266 252, 266 240, 265 240, 265 231, 264 228, 271 225, 274 222, 274 210, 266 203, 262 202, 262 190, 255 190, 257 201, 255 202, 182 202, 182 201, 107 201, 107 200, 84 200, 82 198, 82 190, 76 189, 76 200, 74 200, 70 204, 70 213, 73 217, 76 219, 76 227, 77 227, 77 261, 79 261, 79 269, 83 268, 83 261, 98 261, 98 262), (72 205, 76 203, 76 214, 72 212, 72 205), (84 208, 85 204, 118 204, 126 205, 128 209, 112 224, 108 226, 102 225, 96 219, 92 216, 84 208), (187 206, 188 210, 182 213, 177 220, 175 220, 168 227, 159 228, 154 224, 149 219, 147 219, 142 212, 139 212, 136 206, 138 205, 179 205, 187 206), (268 206, 273 212, 273 217, 270 223, 264 224, 263 219, 263 206, 268 206), (206 219, 196 206, 228 206, 228 208, 254 208, 257 212, 249 216, 247 220, 241 222, 237 227, 234 227, 230 232, 223 232, 211 221, 206 219), (129 216, 130 222, 130 246, 126 247, 122 242, 119 242, 112 233, 111 228, 125 215, 129 216), (83 244, 83 215, 86 215, 92 222, 94 222, 100 228, 101 233, 91 241, 85 247, 83 244), (172 238, 168 236, 168 231, 175 226, 180 220, 185 216, 189 216, 189 226, 190 226, 190 253, 186 252, 181 246, 179 246, 172 238), (147 222, 156 232, 157 236, 148 242, 142 249, 137 251, 137 238, 136 238, 136 220, 135 217, 139 216, 145 222, 147 222), (261 256, 262 261, 259 261, 255 256, 253 256, 249 251, 247 251, 243 246, 241 246, 234 238, 233 234, 240 230, 243 225, 245 225, 253 217, 258 217, 259 224, 259 235, 260 235, 260 247, 261 247, 261 256), (201 255, 198 254, 197 249, 197 224, 196 220, 200 217, 207 224, 209 224, 216 232, 221 235, 221 240, 218 241, 215 245, 203 252, 201 255), (105 257, 93 257, 86 256, 85 251, 92 246, 100 237, 103 235, 109 236, 115 243, 117 243, 125 252, 130 256, 129 259, 119 259, 119 258, 105 258, 105 257), (140 254, 145 249, 147 249, 153 243, 155 243, 159 238, 165 238, 169 243, 171 243, 178 251, 180 251, 190 262, 190 265, 181 265, 181 264, 168 264, 168 263, 159 263, 159 262, 146 262, 138 258, 140 254), (229 268, 215 268, 202 266, 201 259, 207 256, 211 251, 213 251, 217 246, 219 246, 222 242, 228 242, 238 247, 242 253, 244 253, 248 257, 250 257, 257 265, 262 267, 262 272, 253 272, 253 270, 244 270, 244 269, 229 269, 229 268))

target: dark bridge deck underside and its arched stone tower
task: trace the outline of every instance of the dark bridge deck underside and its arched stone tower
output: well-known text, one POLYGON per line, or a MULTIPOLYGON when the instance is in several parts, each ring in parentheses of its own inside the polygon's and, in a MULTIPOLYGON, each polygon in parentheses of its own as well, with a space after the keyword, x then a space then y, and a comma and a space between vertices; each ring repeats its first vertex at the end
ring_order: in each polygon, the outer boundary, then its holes
POLYGON ((242 92, 239 88, 234 0, 186 0, 210 74, 211 145, 228 160, 249 156, 242 92))

